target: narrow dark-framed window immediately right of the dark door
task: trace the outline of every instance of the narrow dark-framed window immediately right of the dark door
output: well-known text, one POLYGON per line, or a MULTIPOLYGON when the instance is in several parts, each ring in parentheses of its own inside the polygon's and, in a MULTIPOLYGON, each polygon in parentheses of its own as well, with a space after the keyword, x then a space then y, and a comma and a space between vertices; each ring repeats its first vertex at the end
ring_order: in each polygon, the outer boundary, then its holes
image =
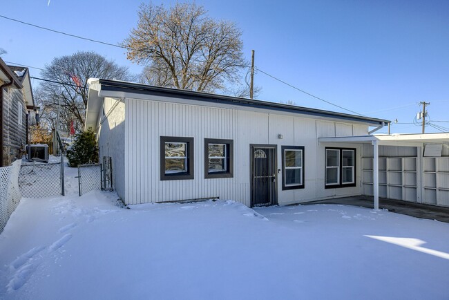
POLYGON ((304 147, 282 146, 283 190, 304 188, 304 147))

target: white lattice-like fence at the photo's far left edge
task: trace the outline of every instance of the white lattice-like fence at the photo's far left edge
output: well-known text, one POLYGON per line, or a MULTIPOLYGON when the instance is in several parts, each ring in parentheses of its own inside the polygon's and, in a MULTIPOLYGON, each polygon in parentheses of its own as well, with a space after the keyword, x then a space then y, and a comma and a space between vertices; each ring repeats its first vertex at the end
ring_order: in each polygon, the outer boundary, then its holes
POLYGON ((21 160, 16 160, 10 167, 0 168, 0 233, 22 198, 18 185, 20 165, 21 160))

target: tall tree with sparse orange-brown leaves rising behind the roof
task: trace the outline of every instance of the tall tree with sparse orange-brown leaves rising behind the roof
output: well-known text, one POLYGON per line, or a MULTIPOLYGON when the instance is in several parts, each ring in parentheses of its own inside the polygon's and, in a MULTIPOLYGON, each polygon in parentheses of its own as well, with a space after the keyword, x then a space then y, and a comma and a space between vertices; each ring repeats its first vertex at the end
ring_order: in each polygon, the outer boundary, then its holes
POLYGON ((246 65, 241 32, 229 21, 215 21, 195 3, 171 8, 142 4, 137 27, 124 40, 127 57, 148 64, 147 83, 193 91, 215 91, 238 81, 246 65))

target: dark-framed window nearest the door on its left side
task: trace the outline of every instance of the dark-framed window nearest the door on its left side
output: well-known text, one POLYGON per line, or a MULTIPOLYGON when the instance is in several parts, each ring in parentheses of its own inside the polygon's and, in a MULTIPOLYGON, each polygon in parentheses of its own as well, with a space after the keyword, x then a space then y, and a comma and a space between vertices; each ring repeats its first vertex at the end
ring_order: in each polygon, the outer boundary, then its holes
POLYGON ((233 177, 233 140, 204 139, 204 178, 233 177))

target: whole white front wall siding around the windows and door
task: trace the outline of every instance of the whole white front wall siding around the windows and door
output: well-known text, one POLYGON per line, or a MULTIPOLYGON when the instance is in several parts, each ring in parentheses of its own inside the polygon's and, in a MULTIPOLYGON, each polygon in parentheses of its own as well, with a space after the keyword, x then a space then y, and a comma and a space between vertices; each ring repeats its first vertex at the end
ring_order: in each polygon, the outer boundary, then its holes
MULTIPOLYGON (((281 146, 305 147, 305 189, 282 190, 278 173, 278 203, 300 203, 332 196, 361 194, 354 188, 324 189, 324 149, 318 137, 352 135, 352 124, 297 118, 173 102, 126 99, 124 144, 126 203, 138 204, 220 197, 250 203, 250 144, 276 144, 278 169, 281 146), (282 134, 283 139, 278 135, 282 134), (193 138, 194 179, 160 180, 160 137, 193 138), (204 178, 204 138, 233 140, 233 178, 204 178)), ((359 164, 360 147, 357 148, 359 164)))

